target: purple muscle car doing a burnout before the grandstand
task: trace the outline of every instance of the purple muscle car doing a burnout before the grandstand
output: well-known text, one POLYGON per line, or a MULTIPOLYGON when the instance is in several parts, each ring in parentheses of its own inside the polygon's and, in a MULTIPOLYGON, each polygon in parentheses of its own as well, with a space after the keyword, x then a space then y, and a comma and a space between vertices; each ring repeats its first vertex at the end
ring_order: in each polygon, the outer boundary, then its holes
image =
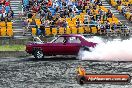
POLYGON ((80 49, 89 50, 89 47, 95 47, 96 44, 87 41, 82 35, 60 35, 48 43, 41 40, 28 43, 26 52, 34 55, 36 59, 52 55, 78 55, 80 49))

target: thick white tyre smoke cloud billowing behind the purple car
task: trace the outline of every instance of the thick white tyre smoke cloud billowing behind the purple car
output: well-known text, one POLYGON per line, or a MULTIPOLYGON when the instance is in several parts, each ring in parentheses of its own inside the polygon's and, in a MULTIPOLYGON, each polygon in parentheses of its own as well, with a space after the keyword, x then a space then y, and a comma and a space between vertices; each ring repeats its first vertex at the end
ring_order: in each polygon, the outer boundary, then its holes
POLYGON ((89 40, 99 43, 95 48, 91 48, 91 52, 80 51, 79 57, 82 60, 132 61, 132 38, 107 42, 98 37, 89 40))

